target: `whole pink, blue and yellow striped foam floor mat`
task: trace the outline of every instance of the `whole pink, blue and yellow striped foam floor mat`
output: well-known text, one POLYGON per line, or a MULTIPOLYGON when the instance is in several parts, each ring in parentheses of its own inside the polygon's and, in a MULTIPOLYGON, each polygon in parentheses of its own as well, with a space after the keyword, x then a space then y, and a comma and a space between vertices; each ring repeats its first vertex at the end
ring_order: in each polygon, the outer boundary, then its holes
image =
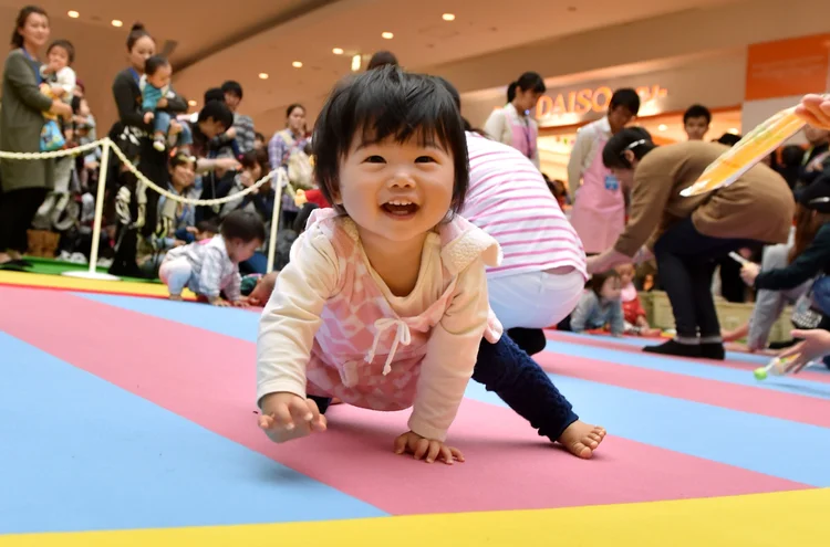
POLYGON ((392 453, 406 412, 345 406, 276 445, 257 429, 258 315, 0 286, 0 545, 819 546, 830 520, 830 374, 642 354, 550 334, 539 362, 591 461, 471 382, 467 462, 392 453))

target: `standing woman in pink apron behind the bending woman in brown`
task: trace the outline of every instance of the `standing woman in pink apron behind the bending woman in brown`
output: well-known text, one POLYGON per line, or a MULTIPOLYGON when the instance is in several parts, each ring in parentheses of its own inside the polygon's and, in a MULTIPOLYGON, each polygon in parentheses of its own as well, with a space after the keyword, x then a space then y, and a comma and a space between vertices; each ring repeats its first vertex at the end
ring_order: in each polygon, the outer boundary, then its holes
POLYGON ((577 134, 570 160, 568 182, 574 198, 571 224, 582 240, 587 254, 610 249, 625 228, 625 198, 620 182, 602 164, 602 149, 640 111, 634 90, 614 92, 608 116, 577 134), (581 181, 581 186, 580 186, 581 181))

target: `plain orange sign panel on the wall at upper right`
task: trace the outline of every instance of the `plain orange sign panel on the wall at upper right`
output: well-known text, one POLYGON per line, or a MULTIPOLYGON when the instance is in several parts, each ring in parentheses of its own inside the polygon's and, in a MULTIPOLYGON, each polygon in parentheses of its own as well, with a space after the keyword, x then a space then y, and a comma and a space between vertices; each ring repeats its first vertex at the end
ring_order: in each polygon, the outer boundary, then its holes
POLYGON ((746 99, 789 97, 828 91, 830 34, 749 46, 746 99))

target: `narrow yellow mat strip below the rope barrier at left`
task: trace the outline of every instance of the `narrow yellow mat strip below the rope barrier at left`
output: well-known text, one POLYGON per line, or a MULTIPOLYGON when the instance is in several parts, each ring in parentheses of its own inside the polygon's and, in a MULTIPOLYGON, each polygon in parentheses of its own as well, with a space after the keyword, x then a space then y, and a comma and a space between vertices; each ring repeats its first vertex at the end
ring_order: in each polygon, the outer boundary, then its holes
MULTIPOLYGON (((0 271, 0 284, 43 288, 62 288, 65 291, 91 291, 95 293, 128 294, 135 296, 167 296, 167 287, 157 283, 136 283, 133 281, 100 281, 68 277, 64 275, 45 275, 25 272, 0 271)), ((181 293, 184 298, 195 298, 187 288, 181 293)))

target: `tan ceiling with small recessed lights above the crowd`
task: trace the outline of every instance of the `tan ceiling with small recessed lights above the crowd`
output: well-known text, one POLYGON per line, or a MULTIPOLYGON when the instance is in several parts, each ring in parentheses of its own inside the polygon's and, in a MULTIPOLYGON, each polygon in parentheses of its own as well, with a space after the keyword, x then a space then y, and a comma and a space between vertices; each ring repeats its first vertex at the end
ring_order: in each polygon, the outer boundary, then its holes
MULTIPOLYGON (((174 85, 188 98, 201 102, 208 87, 237 80, 245 88, 241 111, 258 128, 272 132, 293 102, 314 109, 334 82, 350 72, 351 55, 371 55, 388 49, 413 70, 477 57, 529 42, 687 9, 706 9, 732 0, 42 0, 50 13, 52 38, 69 38, 77 50, 76 70, 93 107, 105 123, 114 117, 110 87, 126 65, 124 42, 129 25, 141 20, 156 38, 177 43, 172 55, 174 85), (239 9, 242 8, 242 9, 239 9), (515 8, 515 9, 513 9, 515 8), (81 13, 70 19, 68 10, 81 13), (519 11, 520 10, 520 11, 519 11), (455 21, 442 14, 450 12, 455 21), (121 29, 112 19, 124 22, 121 29), (381 33, 394 33, 384 40, 381 33), (332 48, 345 50, 334 55, 332 48), (302 69, 292 67, 301 61, 302 69), (260 80, 259 73, 268 73, 260 80)), ((7 28, 20 2, 0 0, 0 20, 7 28)), ((655 45, 656 46, 656 45, 655 45)), ((551 54, 578 55, 551 49, 551 54)), ((535 60, 516 66, 516 74, 533 70, 535 60)), ((507 82, 506 82, 507 84, 507 82)))

